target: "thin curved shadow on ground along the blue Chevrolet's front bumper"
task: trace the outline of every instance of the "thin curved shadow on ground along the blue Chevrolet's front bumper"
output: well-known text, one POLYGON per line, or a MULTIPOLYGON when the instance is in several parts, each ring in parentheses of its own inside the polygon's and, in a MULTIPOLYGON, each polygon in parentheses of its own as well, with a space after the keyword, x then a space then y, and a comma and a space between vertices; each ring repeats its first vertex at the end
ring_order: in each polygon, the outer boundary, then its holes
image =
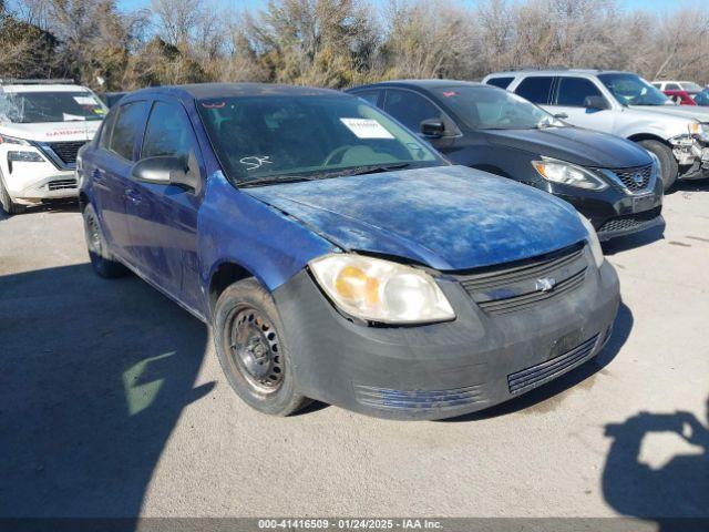
POLYGON ((621 303, 614 324, 613 336, 608 340, 608 344, 606 344, 606 347, 594 359, 580 365, 559 378, 541 386, 540 388, 535 388, 517 399, 512 399, 511 401, 486 408, 485 410, 441 421, 477 421, 527 409, 531 409, 531 411, 553 410, 556 408, 557 403, 563 400, 563 393, 566 390, 569 390, 575 386, 583 386, 584 382, 588 382, 589 379, 593 379, 596 374, 610 364, 610 361, 620 351, 623 345, 627 341, 631 329, 633 313, 625 304, 621 303))

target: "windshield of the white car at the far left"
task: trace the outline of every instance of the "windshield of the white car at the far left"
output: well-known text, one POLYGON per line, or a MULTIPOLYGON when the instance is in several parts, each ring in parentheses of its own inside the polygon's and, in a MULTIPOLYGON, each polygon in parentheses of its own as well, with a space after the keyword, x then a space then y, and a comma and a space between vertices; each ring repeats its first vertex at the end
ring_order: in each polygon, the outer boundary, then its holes
POLYGON ((0 93, 0 120, 17 123, 102 120, 106 108, 91 92, 0 93))

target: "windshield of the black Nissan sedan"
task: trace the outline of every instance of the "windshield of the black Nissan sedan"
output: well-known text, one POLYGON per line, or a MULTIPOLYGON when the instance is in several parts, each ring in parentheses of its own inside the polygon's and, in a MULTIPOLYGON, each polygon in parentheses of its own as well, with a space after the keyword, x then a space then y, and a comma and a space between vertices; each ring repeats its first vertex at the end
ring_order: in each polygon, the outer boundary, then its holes
POLYGON ((436 89, 434 93, 473 130, 534 130, 564 125, 527 100, 500 89, 451 86, 436 89))

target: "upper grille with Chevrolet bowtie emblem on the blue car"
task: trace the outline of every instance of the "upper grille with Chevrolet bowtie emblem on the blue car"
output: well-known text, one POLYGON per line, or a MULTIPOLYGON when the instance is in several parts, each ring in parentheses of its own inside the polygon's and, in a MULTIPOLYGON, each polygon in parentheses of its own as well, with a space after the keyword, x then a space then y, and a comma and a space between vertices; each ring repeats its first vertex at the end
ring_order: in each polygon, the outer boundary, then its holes
POLYGON ((580 287, 586 276, 584 244, 503 267, 458 276, 485 313, 503 315, 527 309, 580 287), (544 290, 540 282, 553 280, 544 290))

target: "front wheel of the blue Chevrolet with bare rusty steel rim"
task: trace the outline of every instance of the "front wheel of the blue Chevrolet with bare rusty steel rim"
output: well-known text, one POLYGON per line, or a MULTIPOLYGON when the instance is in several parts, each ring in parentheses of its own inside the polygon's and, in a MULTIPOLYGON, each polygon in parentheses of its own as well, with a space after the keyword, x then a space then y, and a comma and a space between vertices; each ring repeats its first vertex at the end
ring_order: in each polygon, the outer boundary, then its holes
POLYGON ((289 416, 310 402, 296 389, 276 304, 256 279, 239 280, 222 293, 212 325, 222 369, 248 406, 289 416))

